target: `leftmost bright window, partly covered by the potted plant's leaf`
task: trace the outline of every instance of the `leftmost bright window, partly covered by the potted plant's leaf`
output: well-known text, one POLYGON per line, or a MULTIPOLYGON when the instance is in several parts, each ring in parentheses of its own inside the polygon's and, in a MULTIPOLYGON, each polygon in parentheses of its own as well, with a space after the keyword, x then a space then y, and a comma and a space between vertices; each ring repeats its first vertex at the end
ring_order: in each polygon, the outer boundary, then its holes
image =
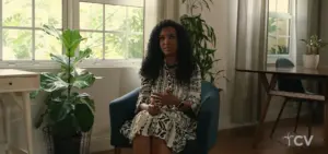
POLYGON ((60 44, 40 28, 43 24, 62 28, 60 0, 0 1, 1 60, 49 60, 49 52, 61 52, 60 44))

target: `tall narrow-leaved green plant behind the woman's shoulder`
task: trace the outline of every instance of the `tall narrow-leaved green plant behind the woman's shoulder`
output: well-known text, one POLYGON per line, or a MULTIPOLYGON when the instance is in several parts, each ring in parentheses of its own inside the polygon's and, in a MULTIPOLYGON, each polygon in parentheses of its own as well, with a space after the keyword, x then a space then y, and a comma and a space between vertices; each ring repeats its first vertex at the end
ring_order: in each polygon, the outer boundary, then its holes
POLYGON ((194 55, 197 64, 201 70, 202 80, 210 80, 214 82, 218 75, 223 70, 213 71, 213 64, 220 59, 215 59, 216 36, 212 26, 210 26, 201 16, 201 13, 196 14, 195 10, 203 8, 210 10, 212 0, 183 0, 187 5, 187 14, 180 16, 180 23, 188 31, 194 55))

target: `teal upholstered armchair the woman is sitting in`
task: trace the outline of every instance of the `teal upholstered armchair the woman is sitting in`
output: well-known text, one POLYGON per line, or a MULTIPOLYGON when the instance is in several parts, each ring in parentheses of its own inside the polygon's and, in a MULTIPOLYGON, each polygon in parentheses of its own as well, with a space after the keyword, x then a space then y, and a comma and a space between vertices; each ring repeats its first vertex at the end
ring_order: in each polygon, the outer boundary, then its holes
MULTIPOLYGON (((120 154, 121 147, 131 147, 129 140, 119 129, 126 120, 134 116, 136 103, 140 87, 109 103, 110 144, 115 154, 120 154)), ((197 139, 188 141, 181 154, 208 154, 215 144, 219 128, 220 90, 210 82, 201 83, 201 109, 197 117, 197 139)))

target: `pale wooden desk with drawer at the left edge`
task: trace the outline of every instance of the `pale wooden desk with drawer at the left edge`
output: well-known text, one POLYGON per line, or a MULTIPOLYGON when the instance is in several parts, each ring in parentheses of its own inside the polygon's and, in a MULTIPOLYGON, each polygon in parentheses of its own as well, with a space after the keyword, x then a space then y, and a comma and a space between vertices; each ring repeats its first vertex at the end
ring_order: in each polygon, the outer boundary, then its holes
MULTIPOLYGON (((11 103, 5 102, 4 96, 10 96, 14 99, 15 104, 20 107, 24 117, 25 134, 27 142, 27 151, 20 150, 21 152, 33 153, 33 132, 32 132, 32 118, 31 118, 31 102, 30 92, 36 91, 39 87, 39 75, 34 72, 26 72, 12 69, 0 69, 0 107, 2 108, 3 130, 5 139, 3 141, 5 154, 11 154, 13 145, 10 139, 10 112, 9 107, 11 103)), ((2 153, 2 152, 0 152, 2 153)))

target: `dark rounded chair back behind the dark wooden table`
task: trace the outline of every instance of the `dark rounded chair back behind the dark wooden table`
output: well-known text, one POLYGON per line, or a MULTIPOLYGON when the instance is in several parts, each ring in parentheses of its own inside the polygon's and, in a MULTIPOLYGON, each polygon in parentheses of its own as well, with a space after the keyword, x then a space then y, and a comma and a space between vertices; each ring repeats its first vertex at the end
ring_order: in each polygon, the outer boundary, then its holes
MULTIPOLYGON (((278 58, 276 61, 277 68, 293 68, 294 63, 286 58, 278 58)), ((278 75, 278 88, 285 92, 304 93, 304 87, 301 80, 288 79, 285 75, 278 75)))

